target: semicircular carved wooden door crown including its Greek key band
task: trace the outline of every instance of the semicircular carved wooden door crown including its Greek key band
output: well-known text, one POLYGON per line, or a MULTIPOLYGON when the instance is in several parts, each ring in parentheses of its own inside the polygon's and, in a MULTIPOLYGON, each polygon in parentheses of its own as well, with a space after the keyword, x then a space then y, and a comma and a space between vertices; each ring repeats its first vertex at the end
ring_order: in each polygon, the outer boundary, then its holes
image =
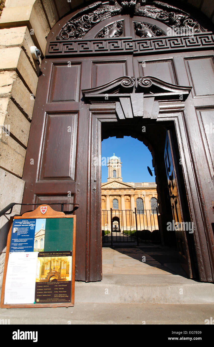
POLYGON ((46 57, 214 47, 212 32, 187 12, 160 1, 97 1, 63 23, 50 35, 46 57))

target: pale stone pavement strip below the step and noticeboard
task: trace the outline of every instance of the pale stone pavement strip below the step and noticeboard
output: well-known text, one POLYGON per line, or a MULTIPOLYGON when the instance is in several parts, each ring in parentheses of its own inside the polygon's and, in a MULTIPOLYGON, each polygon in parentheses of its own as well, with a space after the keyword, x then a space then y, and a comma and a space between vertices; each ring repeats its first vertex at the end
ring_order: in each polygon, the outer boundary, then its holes
MULTIPOLYGON (((10 308, 9 310, 1 308, 0 319, 3 319, 4 321, 10 319, 10 325, 18 324, 20 327, 19 329, 21 330, 33 330, 25 329, 22 327, 22 324, 122 324, 125 326, 128 324, 146 324, 147 331, 149 324, 179 324, 178 327, 175 327, 177 328, 175 331, 182 331, 182 329, 184 329, 182 328, 182 325, 188 324, 189 331, 196 330, 195 328, 192 329, 190 324, 205 325, 207 324, 207 321, 211 322, 211 317, 213 319, 213 311, 214 304, 160 305, 76 303, 74 307, 68 308, 35 307, 10 308)), ((4 325, 4 331, 5 328, 6 326, 4 325)), ((154 329, 157 330, 157 327, 154 329)), ((49 328, 49 330, 53 329, 49 328)), ((170 327, 170 333, 171 330, 174 329, 170 327)), ((201 327, 198 330, 201 330, 201 327)), ((166 330, 164 330, 164 332, 165 331, 166 330)), ((208 334, 209 331, 211 331, 211 329, 207 327, 206 334, 208 334)), ((39 336, 40 334, 38 337, 39 336)), ((62 334, 60 336, 62 339, 62 334)), ((204 341, 204 335, 202 339, 204 341)))

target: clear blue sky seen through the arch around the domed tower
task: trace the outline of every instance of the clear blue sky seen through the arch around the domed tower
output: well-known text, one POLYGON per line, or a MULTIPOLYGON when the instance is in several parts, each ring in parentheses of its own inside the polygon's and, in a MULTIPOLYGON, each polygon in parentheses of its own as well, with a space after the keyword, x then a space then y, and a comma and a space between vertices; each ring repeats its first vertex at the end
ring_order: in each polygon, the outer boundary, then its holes
MULTIPOLYGON (((147 166, 153 170, 152 156, 148 148, 139 140, 131 136, 124 138, 109 137, 101 143, 102 157, 110 157, 115 153, 122 161, 121 174, 123 182, 155 182, 149 175, 147 166)), ((107 181, 108 168, 102 168, 102 182, 107 181)))

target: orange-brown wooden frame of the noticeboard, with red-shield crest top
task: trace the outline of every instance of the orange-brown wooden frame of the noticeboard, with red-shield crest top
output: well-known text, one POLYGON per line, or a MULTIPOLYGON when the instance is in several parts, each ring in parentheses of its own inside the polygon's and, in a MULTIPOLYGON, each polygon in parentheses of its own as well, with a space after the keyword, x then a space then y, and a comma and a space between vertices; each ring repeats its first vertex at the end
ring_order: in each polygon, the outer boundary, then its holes
MULTIPOLYGON (((68 307, 74 306, 74 281, 75 281, 75 241, 76 241, 76 216, 75 215, 65 215, 64 212, 54 211, 49 205, 43 204, 38 206, 38 208, 32 212, 26 212, 21 216, 16 216, 13 220, 16 219, 48 219, 48 218, 73 218, 73 247, 72 247, 72 272, 71 272, 71 301, 68 303, 36 303, 36 304, 4 304, 4 293, 5 293, 5 284, 8 268, 8 259, 9 259, 9 250, 12 234, 12 226, 10 227, 8 238, 7 238, 7 249, 6 249, 6 259, 4 263, 4 273, 3 273, 3 282, 2 282, 2 291, 1 291, 1 308, 21 308, 21 307, 68 307), (41 213, 40 207, 47 206, 45 214, 41 213)), ((51 269, 51 265, 50 265, 51 269)), ((36 278, 35 278, 36 280, 36 278)))

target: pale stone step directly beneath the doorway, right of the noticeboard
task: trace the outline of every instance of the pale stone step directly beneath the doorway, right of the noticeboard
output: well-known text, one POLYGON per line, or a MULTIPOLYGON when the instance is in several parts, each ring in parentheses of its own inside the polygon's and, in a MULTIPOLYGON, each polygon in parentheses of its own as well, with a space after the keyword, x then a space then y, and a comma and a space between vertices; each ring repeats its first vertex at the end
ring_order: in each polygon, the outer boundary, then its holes
POLYGON ((104 275, 100 282, 75 282, 75 303, 214 303, 214 284, 182 276, 104 275))

